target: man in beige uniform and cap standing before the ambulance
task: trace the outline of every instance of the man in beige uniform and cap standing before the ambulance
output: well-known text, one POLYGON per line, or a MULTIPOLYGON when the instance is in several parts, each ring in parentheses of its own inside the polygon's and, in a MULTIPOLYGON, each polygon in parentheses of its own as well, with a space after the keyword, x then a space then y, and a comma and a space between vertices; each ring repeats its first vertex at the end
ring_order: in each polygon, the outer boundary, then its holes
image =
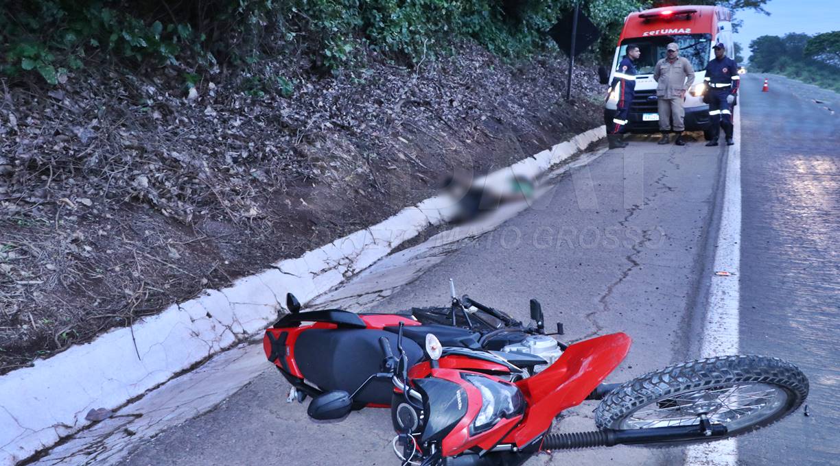
POLYGON ((654 70, 656 80, 656 99, 659 106, 659 131, 662 139, 659 144, 669 143, 668 132, 677 133, 678 146, 685 146, 682 132, 685 131, 685 91, 694 84, 694 68, 689 60, 680 56, 680 46, 674 42, 668 44, 665 58, 659 60, 654 70))

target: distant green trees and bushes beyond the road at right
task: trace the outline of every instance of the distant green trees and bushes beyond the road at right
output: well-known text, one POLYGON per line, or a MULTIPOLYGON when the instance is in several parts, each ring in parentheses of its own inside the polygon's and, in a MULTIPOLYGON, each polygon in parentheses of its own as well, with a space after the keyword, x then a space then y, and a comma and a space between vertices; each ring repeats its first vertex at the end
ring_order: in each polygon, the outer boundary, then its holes
POLYGON ((840 92, 840 31, 764 35, 749 44, 751 71, 776 73, 840 92))

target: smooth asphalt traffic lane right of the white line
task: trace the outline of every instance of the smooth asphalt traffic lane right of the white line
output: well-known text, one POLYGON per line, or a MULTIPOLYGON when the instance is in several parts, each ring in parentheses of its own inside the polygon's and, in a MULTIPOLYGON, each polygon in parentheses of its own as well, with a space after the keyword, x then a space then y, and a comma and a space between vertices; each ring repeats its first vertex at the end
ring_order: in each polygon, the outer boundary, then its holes
POLYGON ((739 456, 840 464, 840 95, 771 75, 742 89, 741 352, 799 365, 811 416, 744 438, 739 456))

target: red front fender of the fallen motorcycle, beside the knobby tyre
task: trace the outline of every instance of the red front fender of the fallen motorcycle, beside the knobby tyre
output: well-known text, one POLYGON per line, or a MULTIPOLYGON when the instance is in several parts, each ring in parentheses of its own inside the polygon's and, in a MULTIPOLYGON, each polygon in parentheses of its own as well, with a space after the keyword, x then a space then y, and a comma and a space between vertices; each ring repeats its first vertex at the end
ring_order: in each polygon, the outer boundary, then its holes
POLYGON ((517 381, 528 408, 520 427, 505 442, 522 447, 551 427, 559 412, 585 400, 621 364, 632 340, 617 333, 572 344, 559 360, 533 377, 517 381))

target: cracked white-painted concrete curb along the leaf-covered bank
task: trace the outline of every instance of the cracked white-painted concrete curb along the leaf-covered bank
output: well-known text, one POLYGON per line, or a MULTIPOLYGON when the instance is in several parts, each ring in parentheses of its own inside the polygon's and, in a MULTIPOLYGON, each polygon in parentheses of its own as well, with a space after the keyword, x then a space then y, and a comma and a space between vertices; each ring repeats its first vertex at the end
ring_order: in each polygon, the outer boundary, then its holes
MULTIPOLYGON (((535 176, 589 146, 597 127, 487 176, 535 176)), ((449 200, 426 199, 365 230, 277 262, 223 290, 206 290, 186 303, 113 329, 33 367, 0 376, 0 464, 13 464, 90 422, 91 409, 114 409, 171 379, 209 355, 271 324, 286 292, 307 302, 345 277, 370 267, 403 241, 446 219, 449 200), (136 347, 135 347, 136 342, 136 347), (138 357, 139 355, 139 357, 138 357)))

